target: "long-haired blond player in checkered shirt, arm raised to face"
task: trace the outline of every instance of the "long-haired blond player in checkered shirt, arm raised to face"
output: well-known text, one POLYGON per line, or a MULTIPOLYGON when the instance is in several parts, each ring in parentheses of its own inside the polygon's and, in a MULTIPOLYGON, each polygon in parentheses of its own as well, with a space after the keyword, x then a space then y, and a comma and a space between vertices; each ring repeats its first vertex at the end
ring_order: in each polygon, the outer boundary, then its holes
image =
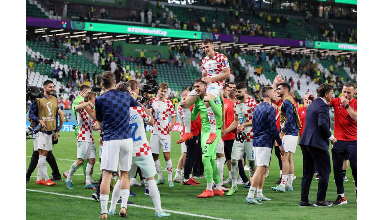
POLYGON ((72 176, 84 163, 84 160, 88 160, 86 166, 86 183, 85 189, 93 189, 95 185, 92 184, 92 170, 96 162, 96 146, 92 135, 93 130, 100 130, 100 125, 96 124, 88 112, 93 112, 93 107, 96 101, 97 93, 88 92, 85 95, 84 101, 81 101, 75 108, 78 112, 77 125, 79 126, 79 132, 77 133, 77 160, 70 166, 67 178, 65 179, 65 186, 68 189, 72 187, 72 176))

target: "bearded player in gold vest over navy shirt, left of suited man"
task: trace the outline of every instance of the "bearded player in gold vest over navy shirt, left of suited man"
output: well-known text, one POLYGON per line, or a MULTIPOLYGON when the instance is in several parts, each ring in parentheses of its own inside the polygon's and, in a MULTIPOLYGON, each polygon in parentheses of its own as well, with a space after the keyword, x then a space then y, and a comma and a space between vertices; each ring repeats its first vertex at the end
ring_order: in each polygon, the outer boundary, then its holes
POLYGON ((294 162, 293 154, 298 143, 298 130, 301 129, 301 121, 298 117, 293 98, 289 95, 290 85, 283 82, 278 84, 278 97, 282 99, 282 105, 279 106, 281 131, 279 136, 282 140, 285 154, 281 156, 282 160, 282 180, 280 185, 272 187, 274 191, 285 192, 293 191, 294 162))

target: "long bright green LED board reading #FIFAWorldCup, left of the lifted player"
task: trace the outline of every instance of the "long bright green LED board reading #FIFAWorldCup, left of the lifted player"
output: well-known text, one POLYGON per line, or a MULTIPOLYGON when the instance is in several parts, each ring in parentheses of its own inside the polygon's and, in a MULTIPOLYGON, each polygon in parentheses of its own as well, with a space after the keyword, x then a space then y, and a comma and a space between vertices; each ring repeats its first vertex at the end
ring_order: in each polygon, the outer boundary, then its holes
MULTIPOLYGON (((74 23, 73 21, 71 23, 74 23)), ((76 22, 79 23, 79 22, 76 22)), ((83 23, 83 22, 80 22, 83 23)), ((201 31, 181 31, 156 27, 140 27, 122 24, 103 24, 85 22, 85 31, 113 32, 122 34, 151 35, 159 37, 178 37, 187 39, 201 39, 201 31)))

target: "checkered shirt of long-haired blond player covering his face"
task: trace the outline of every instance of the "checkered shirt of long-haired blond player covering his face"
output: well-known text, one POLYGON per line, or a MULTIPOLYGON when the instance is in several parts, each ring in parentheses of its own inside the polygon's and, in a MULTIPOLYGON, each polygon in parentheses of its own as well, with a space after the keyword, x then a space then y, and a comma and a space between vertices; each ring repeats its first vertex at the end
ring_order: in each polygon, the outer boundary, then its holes
POLYGON ((90 117, 85 109, 77 112, 77 125, 79 126, 79 133, 77 133, 76 141, 95 143, 92 135, 92 126, 96 125, 96 121, 90 117))

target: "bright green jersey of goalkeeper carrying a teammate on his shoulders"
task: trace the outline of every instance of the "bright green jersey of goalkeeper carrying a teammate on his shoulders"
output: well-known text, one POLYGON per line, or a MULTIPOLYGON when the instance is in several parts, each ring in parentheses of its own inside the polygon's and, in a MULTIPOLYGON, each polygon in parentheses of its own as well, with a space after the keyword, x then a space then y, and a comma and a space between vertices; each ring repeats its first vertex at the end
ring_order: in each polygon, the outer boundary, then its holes
MULTIPOLYGON (((210 101, 210 106, 214 111, 216 118, 216 130, 221 128, 222 122, 222 99, 217 97, 215 100, 210 101)), ((195 120, 200 113, 201 116, 201 132, 210 132, 210 122, 208 117, 208 112, 206 110, 205 102, 203 99, 199 98, 198 101, 194 104, 193 112, 191 112, 191 120, 195 120)))

